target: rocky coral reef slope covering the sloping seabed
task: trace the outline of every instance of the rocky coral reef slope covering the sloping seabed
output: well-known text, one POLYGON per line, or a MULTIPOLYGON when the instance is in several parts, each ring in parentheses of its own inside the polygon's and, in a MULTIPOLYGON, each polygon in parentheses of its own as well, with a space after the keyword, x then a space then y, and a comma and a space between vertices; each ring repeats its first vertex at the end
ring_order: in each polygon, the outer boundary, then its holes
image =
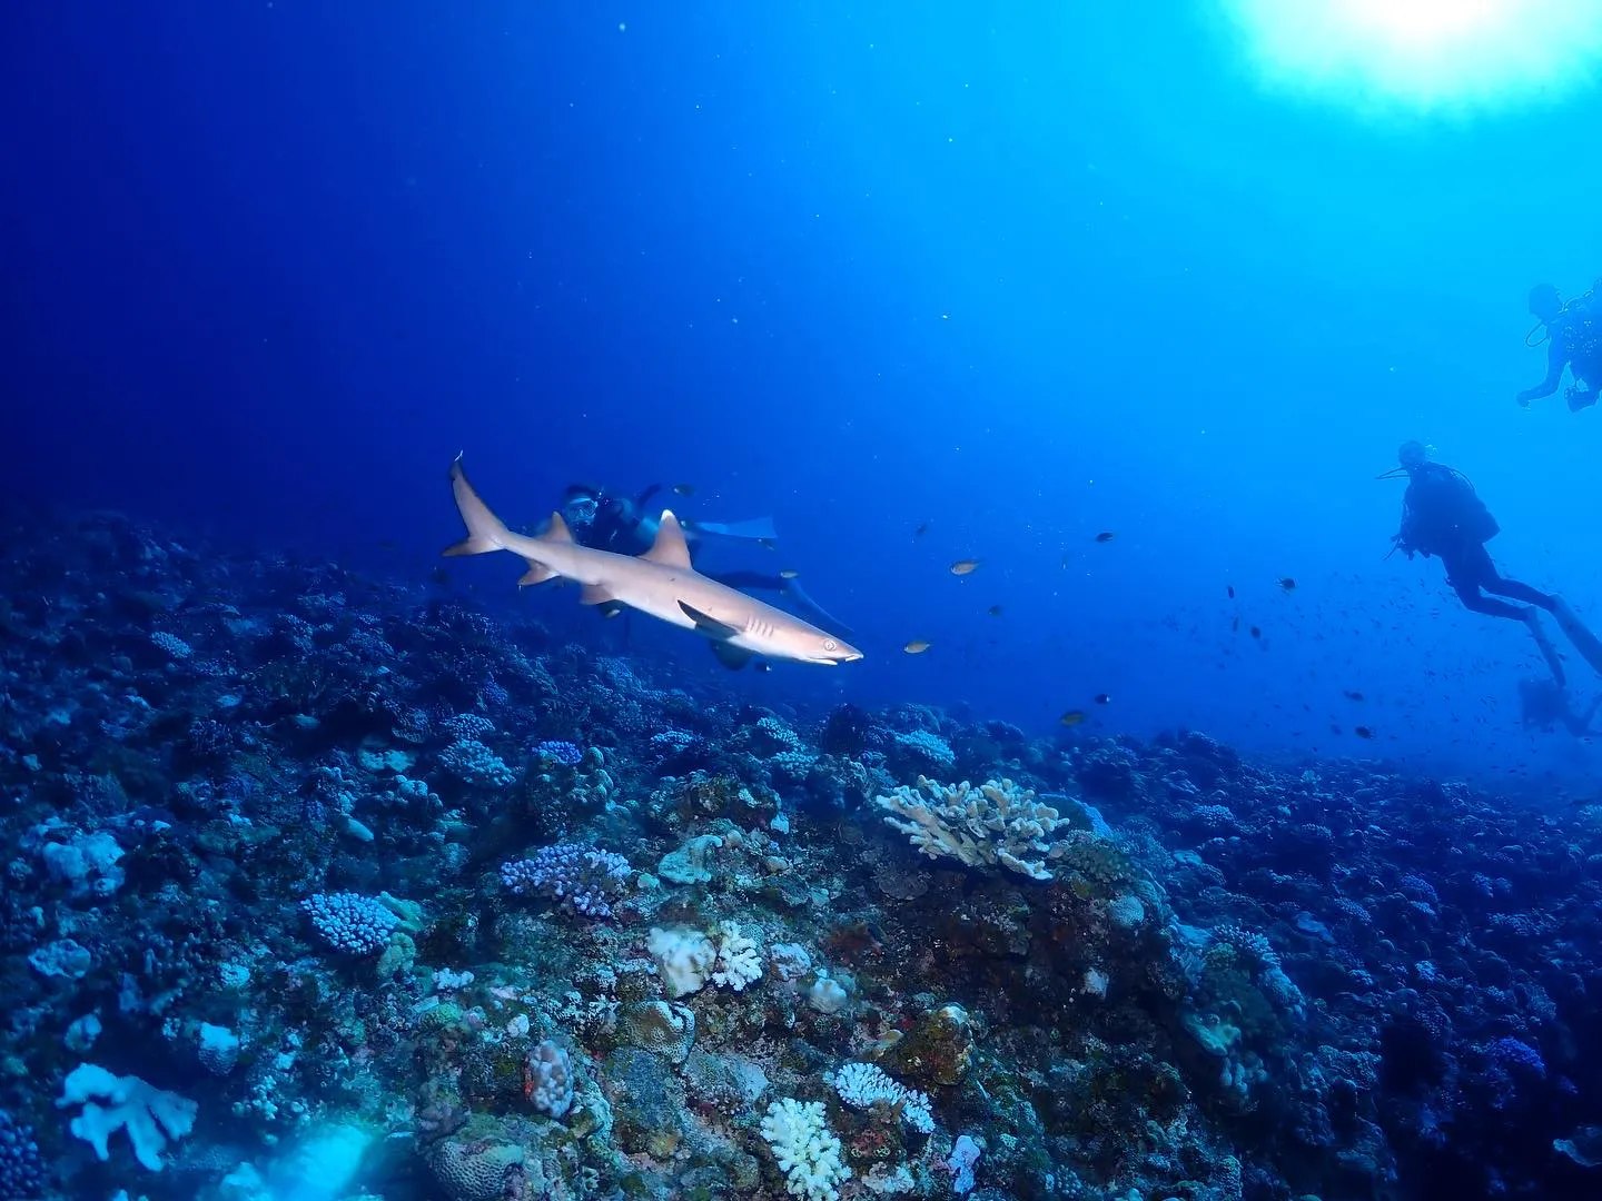
POLYGON ((5 533, 3 1196, 1599 1188, 1602 805, 5 533))

